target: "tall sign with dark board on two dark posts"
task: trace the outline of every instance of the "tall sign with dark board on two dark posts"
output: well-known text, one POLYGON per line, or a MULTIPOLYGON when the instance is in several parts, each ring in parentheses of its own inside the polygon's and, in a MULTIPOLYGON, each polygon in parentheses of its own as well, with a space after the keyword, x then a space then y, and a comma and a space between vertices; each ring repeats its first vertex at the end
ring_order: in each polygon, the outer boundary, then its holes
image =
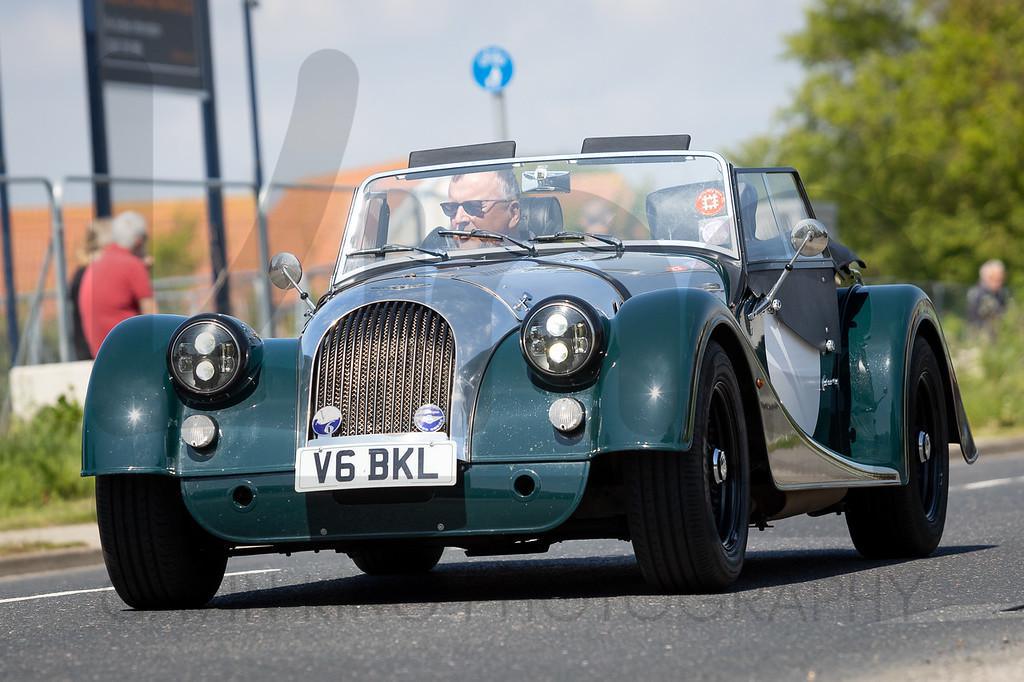
MULTIPOLYGON (((106 83, 172 88, 200 96, 208 180, 220 180, 216 94, 207 0, 82 0, 92 172, 109 176, 106 83)), ((110 183, 93 186, 95 214, 110 216, 110 183)), ((228 309, 227 248, 220 187, 207 188, 210 261, 217 285, 217 308, 228 309)))

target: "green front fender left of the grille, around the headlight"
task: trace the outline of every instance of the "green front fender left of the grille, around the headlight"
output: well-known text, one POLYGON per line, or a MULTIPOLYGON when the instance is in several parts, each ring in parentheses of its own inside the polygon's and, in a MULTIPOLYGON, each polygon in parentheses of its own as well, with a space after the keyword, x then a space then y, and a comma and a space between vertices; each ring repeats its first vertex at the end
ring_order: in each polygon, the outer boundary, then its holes
POLYGON ((144 315, 118 325, 89 378, 82 431, 82 475, 157 473, 222 476, 294 467, 298 340, 266 339, 255 386, 226 406, 182 404, 167 371, 167 344, 184 321, 144 315), (197 453, 181 442, 191 414, 212 417, 217 441, 197 453))

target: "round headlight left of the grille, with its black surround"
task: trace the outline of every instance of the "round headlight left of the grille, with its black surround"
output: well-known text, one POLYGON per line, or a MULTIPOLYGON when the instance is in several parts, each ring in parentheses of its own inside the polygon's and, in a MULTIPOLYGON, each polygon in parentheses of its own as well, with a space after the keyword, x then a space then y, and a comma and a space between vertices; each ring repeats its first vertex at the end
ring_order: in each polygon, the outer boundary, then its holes
POLYGON ((175 332, 167 364, 175 384, 186 395, 217 399, 243 382, 252 351, 261 343, 237 319, 203 315, 175 332))

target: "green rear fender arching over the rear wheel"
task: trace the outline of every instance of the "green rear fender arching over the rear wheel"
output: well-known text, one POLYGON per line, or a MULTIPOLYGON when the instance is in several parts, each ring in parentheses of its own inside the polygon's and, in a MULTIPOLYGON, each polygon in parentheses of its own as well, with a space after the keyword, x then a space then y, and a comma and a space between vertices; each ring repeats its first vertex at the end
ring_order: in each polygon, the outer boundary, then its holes
POLYGON ((928 295, 909 285, 858 286, 847 299, 843 332, 849 348, 852 459, 890 466, 907 481, 906 375, 914 341, 923 335, 944 370, 949 442, 961 443, 968 463, 976 461, 956 375, 928 295))

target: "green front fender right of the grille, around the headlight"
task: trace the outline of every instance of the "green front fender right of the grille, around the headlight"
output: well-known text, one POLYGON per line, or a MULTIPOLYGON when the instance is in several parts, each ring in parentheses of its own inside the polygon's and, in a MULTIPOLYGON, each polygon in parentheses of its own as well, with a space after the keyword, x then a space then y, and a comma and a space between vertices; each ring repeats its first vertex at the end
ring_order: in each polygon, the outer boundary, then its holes
POLYGON ((627 300, 607 323, 596 383, 556 390, 534 381, 513 333, 484 372, 472 425, 474 461, 585 460, 603 453, 685 451, 692 438, 696 368, 712 330, 734 326, 722 300, 695 289, 658 290, 627 300), (580 400, 579 433, 555 432, 551 403, 580 400))

